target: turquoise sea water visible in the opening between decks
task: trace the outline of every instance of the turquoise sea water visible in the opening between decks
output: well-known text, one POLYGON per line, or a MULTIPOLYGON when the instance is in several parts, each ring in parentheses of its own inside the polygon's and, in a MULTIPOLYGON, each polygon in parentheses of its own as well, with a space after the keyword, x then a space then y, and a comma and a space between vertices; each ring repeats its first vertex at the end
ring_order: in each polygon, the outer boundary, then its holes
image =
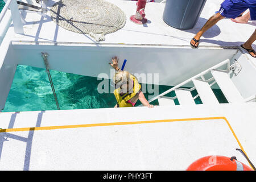
MULTIPOLYGON (((96 109, 115 106, 116 101, 113 93, 98 93, 97 86, 102 80, 97 80, 96 77, 53 70, 50 72, 61 110, 96 109)), ((159 86, 159 94, 172 88, 172 86, 165 85, 142 84, 143 86, 150 86, 150 88, 151 86, 152 88, 159 86)), ((220 103, 226 102, 225 97, 219 89, 213 89, 213 92, 216 94, 220 103)), ((196 94, 196 90, 193 90, 192 96, 196 96, 196 94)), ((144 95, 148 99, 148 96, 151 94, 146 92, 144 95)), ((166 96, 174 97, 175 93, 171 92, 166 96)), ((202 103, 199 97, 195 101, 196 104, 202 103)), ((175 100, 175 103, 179 104, 177 100, 175 100)), ((138 101, 136 106, 140 104, 141 102, 138 101)), ((152 104, 158 105, 158 101, 156 100, 152 104)), ((2 111, 35 110, 57 110, 47 73, 45 69, 18 65, 5 108, 2 111)))

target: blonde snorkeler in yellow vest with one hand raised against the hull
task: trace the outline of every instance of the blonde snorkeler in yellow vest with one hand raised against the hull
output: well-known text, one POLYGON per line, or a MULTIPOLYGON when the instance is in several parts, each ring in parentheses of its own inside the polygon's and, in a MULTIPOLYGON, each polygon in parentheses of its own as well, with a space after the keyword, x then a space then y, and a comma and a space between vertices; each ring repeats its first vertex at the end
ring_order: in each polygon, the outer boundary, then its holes
POLYGON ((115 107, 134 107, 139 100, 143 106, 154 107, 146 100, 137 78, 127 71, 120 71, 118 68, 118 58, 115 56, 112 63, 109 63, 115 71, 113 77, 115 84, 114 95, 117 100, 115 107))

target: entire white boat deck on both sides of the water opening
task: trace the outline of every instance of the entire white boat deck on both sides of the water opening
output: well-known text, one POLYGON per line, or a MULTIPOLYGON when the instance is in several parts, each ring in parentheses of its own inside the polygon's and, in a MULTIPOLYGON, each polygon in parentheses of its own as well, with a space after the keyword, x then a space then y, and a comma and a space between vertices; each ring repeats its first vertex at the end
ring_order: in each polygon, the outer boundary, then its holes
MULTIPOLYGON (((163 22, 163 3, 147 3, 145 12, 150 23, 142 26, 129 19, 135 13, 135 2, 108 1, 120 7, 127 20, 121 30, 105 35, 101 45, 180 47, 190 47, 192 37, 222 2, 208 0, 192 30, 177 30, 163 22)), ((25 35, 14 34, 10 27, 2 45, 8 41, 55 45, 95 43, 87 35, 57 26, 49 16, 42 18, 27 13, 25 20, 25 35)), ((200 46, 240 46, 254 30, 254 22, 238 24, 224 19, 205 33, 200 46)), ((256 49, 255 44, 253 48, 256 49)), ((256 65, 250 55, 246 57, 256 65)), ((250 102, 1 113, 1 128, 6 130, 0 130, 0 169, 184 170, 206 155, 237 156, 249 166, 236 148, 243 148, 255 165, 255 110, 255 102, 250 102)))

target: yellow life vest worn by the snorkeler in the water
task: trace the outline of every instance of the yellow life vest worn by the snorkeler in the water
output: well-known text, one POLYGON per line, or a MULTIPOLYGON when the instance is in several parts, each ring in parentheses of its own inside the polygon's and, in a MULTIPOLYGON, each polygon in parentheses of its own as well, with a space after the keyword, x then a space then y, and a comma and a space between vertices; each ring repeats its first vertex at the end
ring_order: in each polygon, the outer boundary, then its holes
POLYGON ((125 95, 121 96, 120 88, 114 90, 114 95, 117 100, 119 107, 132 107, 133 105, 127 103, 131 98, 133 98, 141 89, 141 85, 139 84, 137 78, 130 74, 130 79, 133 80, 133 93, 126 93, 125 95))

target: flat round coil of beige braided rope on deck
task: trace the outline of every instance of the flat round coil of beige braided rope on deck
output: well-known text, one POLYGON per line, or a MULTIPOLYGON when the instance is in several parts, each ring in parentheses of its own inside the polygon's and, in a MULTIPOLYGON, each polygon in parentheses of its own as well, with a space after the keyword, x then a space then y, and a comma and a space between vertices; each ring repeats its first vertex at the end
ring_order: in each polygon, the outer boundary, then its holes
POLYGON ((59 26, 89 34, 97 42, 105 40, 104 35, 121 29, 126 23, 125 13, 104 0, 60 0, 52 6, 51 18, 59 26))

